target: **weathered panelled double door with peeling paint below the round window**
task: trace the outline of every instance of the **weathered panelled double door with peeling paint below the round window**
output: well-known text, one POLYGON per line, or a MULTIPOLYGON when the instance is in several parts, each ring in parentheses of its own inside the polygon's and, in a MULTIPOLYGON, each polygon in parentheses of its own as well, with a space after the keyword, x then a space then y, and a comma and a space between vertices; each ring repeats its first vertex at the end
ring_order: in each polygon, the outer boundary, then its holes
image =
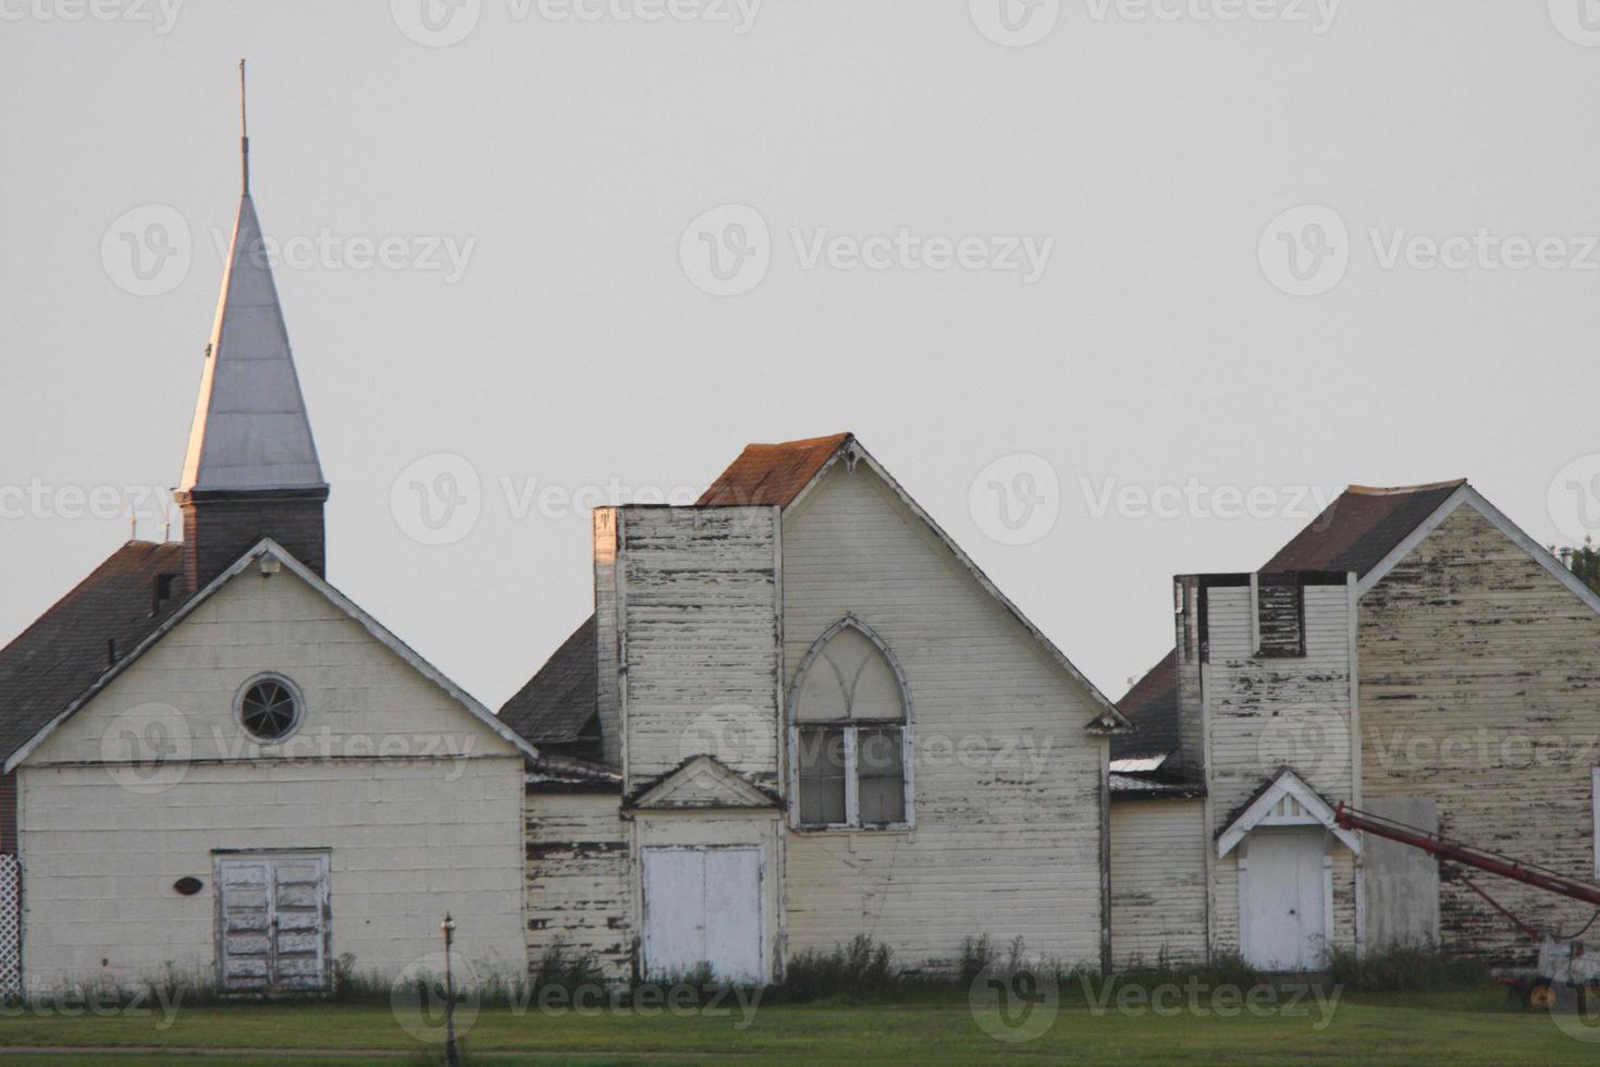
POLYGON ((218 854, 216 958, 229 993, 326 990, 328 854, 218 854))

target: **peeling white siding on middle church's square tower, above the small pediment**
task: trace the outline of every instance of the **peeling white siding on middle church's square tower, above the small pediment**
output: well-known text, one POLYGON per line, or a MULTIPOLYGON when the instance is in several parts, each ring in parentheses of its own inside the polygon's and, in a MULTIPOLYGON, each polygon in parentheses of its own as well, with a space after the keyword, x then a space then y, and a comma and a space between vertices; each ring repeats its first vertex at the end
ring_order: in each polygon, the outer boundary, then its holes
POLYGON ((621 509, 629 789, 707 752, 778 787, 778 510, 621 509))

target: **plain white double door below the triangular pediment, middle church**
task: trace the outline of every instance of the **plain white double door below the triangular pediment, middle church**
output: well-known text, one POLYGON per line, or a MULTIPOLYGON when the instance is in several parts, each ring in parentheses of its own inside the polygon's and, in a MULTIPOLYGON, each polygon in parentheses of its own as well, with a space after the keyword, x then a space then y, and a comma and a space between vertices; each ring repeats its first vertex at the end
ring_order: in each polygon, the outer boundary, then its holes
POLYGON ((645 974, 709 963, 718 981, 763 982, 762 849, 645 849, 645 974))

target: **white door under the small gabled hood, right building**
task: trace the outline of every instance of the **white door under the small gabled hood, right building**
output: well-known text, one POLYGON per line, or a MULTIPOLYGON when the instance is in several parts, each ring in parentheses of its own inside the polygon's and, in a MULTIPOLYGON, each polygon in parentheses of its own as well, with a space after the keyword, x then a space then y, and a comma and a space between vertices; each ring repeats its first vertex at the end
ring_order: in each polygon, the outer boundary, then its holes
POLYGON ((1246 963, 1262 971, 1325 965, 1325 838, 1322 827, 1254 830, 1245 838, 1248 867, 1238 910, 1246 963))

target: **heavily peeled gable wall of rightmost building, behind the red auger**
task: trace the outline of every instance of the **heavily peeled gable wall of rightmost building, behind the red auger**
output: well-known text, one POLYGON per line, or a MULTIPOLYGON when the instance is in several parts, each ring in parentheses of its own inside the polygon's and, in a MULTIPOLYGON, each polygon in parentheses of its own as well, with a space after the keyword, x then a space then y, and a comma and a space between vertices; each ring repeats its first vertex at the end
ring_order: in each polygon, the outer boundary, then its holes
MULTIPOLYGON (((1470 507, 1459 507, 1360 603, 1366 797, 1430 797, 1442 832, 1594 878, 1600 616, 1470 507)), ((1538 925, 1592 909, 1483 875, 1538 925)), ((1534 945, 1442 872, 1440 939, 1496 965, 1534 945)))

